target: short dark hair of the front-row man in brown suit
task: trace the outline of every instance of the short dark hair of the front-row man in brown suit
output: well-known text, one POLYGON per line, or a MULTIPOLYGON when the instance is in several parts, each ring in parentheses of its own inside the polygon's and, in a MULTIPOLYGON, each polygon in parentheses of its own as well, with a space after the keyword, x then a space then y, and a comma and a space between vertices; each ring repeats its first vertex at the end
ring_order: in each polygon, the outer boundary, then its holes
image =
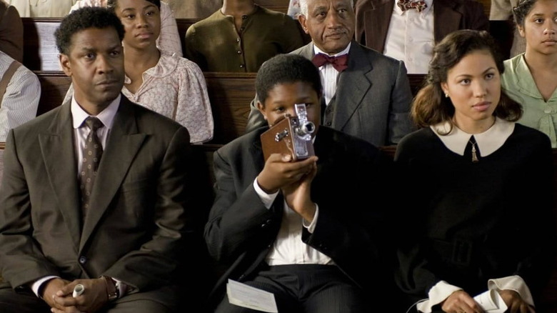
POLYGON ((61 54, 68 55, 71 48, 71 38, 74 34, 85 29, 106 29, 114 27, 120 41, 124 39, 124 26, 114 12, 99 7, 84 7, 68 14, 54 32, 56 46, 61 54))

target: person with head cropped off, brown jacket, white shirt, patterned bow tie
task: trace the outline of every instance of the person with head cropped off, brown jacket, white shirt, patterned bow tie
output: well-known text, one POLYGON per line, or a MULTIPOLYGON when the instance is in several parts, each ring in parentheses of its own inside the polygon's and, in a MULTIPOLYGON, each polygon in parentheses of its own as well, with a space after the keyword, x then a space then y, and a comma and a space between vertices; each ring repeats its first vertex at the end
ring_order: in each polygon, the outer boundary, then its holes
POLYGON ((356 41, 426 74, 433 46, 458 29, 488 30, 473 0, 356 0, 356 41))

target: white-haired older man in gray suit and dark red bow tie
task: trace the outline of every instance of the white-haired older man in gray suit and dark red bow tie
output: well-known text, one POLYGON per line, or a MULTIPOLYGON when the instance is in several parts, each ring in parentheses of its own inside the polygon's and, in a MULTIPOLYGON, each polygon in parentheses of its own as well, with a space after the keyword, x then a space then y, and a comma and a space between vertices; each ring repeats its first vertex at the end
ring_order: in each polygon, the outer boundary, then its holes
MULTIPOLYGON (((311 42, 292 54, 311 59, 321 75, 321 124, 375 146, 397 144, 413 130, 412 99, 403 61, 353 40, 351 0, 300 0, 298 15, 311 42)), ((252 102, 247 130, 266 125, 252 102)))

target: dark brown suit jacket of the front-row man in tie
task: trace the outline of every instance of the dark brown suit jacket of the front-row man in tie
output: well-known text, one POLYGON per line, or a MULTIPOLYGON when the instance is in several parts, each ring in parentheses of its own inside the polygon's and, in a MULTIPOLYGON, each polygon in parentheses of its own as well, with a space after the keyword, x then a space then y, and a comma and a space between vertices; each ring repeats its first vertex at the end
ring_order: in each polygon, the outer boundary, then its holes
POLYGON ((108 275, 136 294, 174 284, 194 234, 190 155, 184 127, 122 96, 82 221, 70 104, 12 129, 0 189, 4 281, 17 289, 49 275, 108 275))

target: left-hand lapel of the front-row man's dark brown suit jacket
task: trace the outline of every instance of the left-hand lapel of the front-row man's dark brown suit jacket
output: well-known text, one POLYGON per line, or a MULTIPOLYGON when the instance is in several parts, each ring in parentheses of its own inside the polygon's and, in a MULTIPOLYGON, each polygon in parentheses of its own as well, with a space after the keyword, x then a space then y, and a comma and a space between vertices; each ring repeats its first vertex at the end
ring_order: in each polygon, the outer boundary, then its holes
POLYGON ((48 134, 39 134, 39 144, 51 189, 75 247, 81 233, 81 209, 71 106, 63 104, 48 134))

